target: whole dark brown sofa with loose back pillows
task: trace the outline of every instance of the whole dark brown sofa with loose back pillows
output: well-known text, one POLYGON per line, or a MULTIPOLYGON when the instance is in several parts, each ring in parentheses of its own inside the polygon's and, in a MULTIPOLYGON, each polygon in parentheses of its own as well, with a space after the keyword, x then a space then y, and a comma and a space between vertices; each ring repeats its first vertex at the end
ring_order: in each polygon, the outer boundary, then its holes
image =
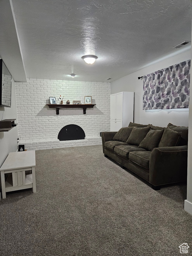
POLYGON ((148 181, 153 189, 187 180, 188 127, 130 123, 118 132, 102 132, 101 137, 104 156, 148 181))

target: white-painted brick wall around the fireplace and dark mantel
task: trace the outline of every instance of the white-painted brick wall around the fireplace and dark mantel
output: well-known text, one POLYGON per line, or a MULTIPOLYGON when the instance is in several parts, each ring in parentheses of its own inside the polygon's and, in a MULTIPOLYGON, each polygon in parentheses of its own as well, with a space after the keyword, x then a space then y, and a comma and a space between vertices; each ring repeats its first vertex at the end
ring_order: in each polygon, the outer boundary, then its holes
POLYGON ((110 83, 80 82, 48 79, 29 79, 28 82, 16 82, 18 132, 21 144, 27 149, 44 149, 68 146, 101 144, 99 133, 110 130, 110 83), (49 108, 49 97, 64 95, 67 100, 81 100, 92 96, 94 108, 49 108), (63 141, 57 139, 59 131, 68 124, 77 124, 83 128, 86 139, 63 141))

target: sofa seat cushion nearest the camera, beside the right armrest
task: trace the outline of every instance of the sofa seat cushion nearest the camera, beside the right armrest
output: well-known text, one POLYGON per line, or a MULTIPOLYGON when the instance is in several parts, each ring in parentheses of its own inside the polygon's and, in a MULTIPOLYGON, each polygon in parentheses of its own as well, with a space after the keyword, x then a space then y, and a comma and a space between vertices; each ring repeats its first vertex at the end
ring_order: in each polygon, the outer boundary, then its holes
POLYGON ((151 151, 133 151, 129 153, 129 160, 134 163, 149 169, 149 158, 151 155, 151 151))

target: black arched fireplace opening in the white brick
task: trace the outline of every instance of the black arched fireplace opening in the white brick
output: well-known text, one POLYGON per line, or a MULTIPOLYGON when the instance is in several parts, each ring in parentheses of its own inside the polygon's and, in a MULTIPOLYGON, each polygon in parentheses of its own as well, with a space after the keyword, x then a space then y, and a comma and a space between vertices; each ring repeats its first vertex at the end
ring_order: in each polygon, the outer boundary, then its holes
POLYGON ((62 140, 84 140, 85 132, 84 130, 76 125, 69 124, 64 126, 58 134, 58 139, 62 140))

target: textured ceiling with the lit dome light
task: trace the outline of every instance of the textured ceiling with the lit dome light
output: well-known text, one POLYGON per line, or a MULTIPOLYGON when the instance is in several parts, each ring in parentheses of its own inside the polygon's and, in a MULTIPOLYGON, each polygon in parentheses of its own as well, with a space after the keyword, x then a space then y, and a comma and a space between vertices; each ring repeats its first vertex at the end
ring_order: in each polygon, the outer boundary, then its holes
POLYGON ((172 47, 191 41, 191 0, 12 0, 12 4, 27 78, 113 81, 189 49, 172 47), (95 64, 81 59, 86 54, 98 57, 95 64), (71 73, 77 76, 71 78, 71 73))

